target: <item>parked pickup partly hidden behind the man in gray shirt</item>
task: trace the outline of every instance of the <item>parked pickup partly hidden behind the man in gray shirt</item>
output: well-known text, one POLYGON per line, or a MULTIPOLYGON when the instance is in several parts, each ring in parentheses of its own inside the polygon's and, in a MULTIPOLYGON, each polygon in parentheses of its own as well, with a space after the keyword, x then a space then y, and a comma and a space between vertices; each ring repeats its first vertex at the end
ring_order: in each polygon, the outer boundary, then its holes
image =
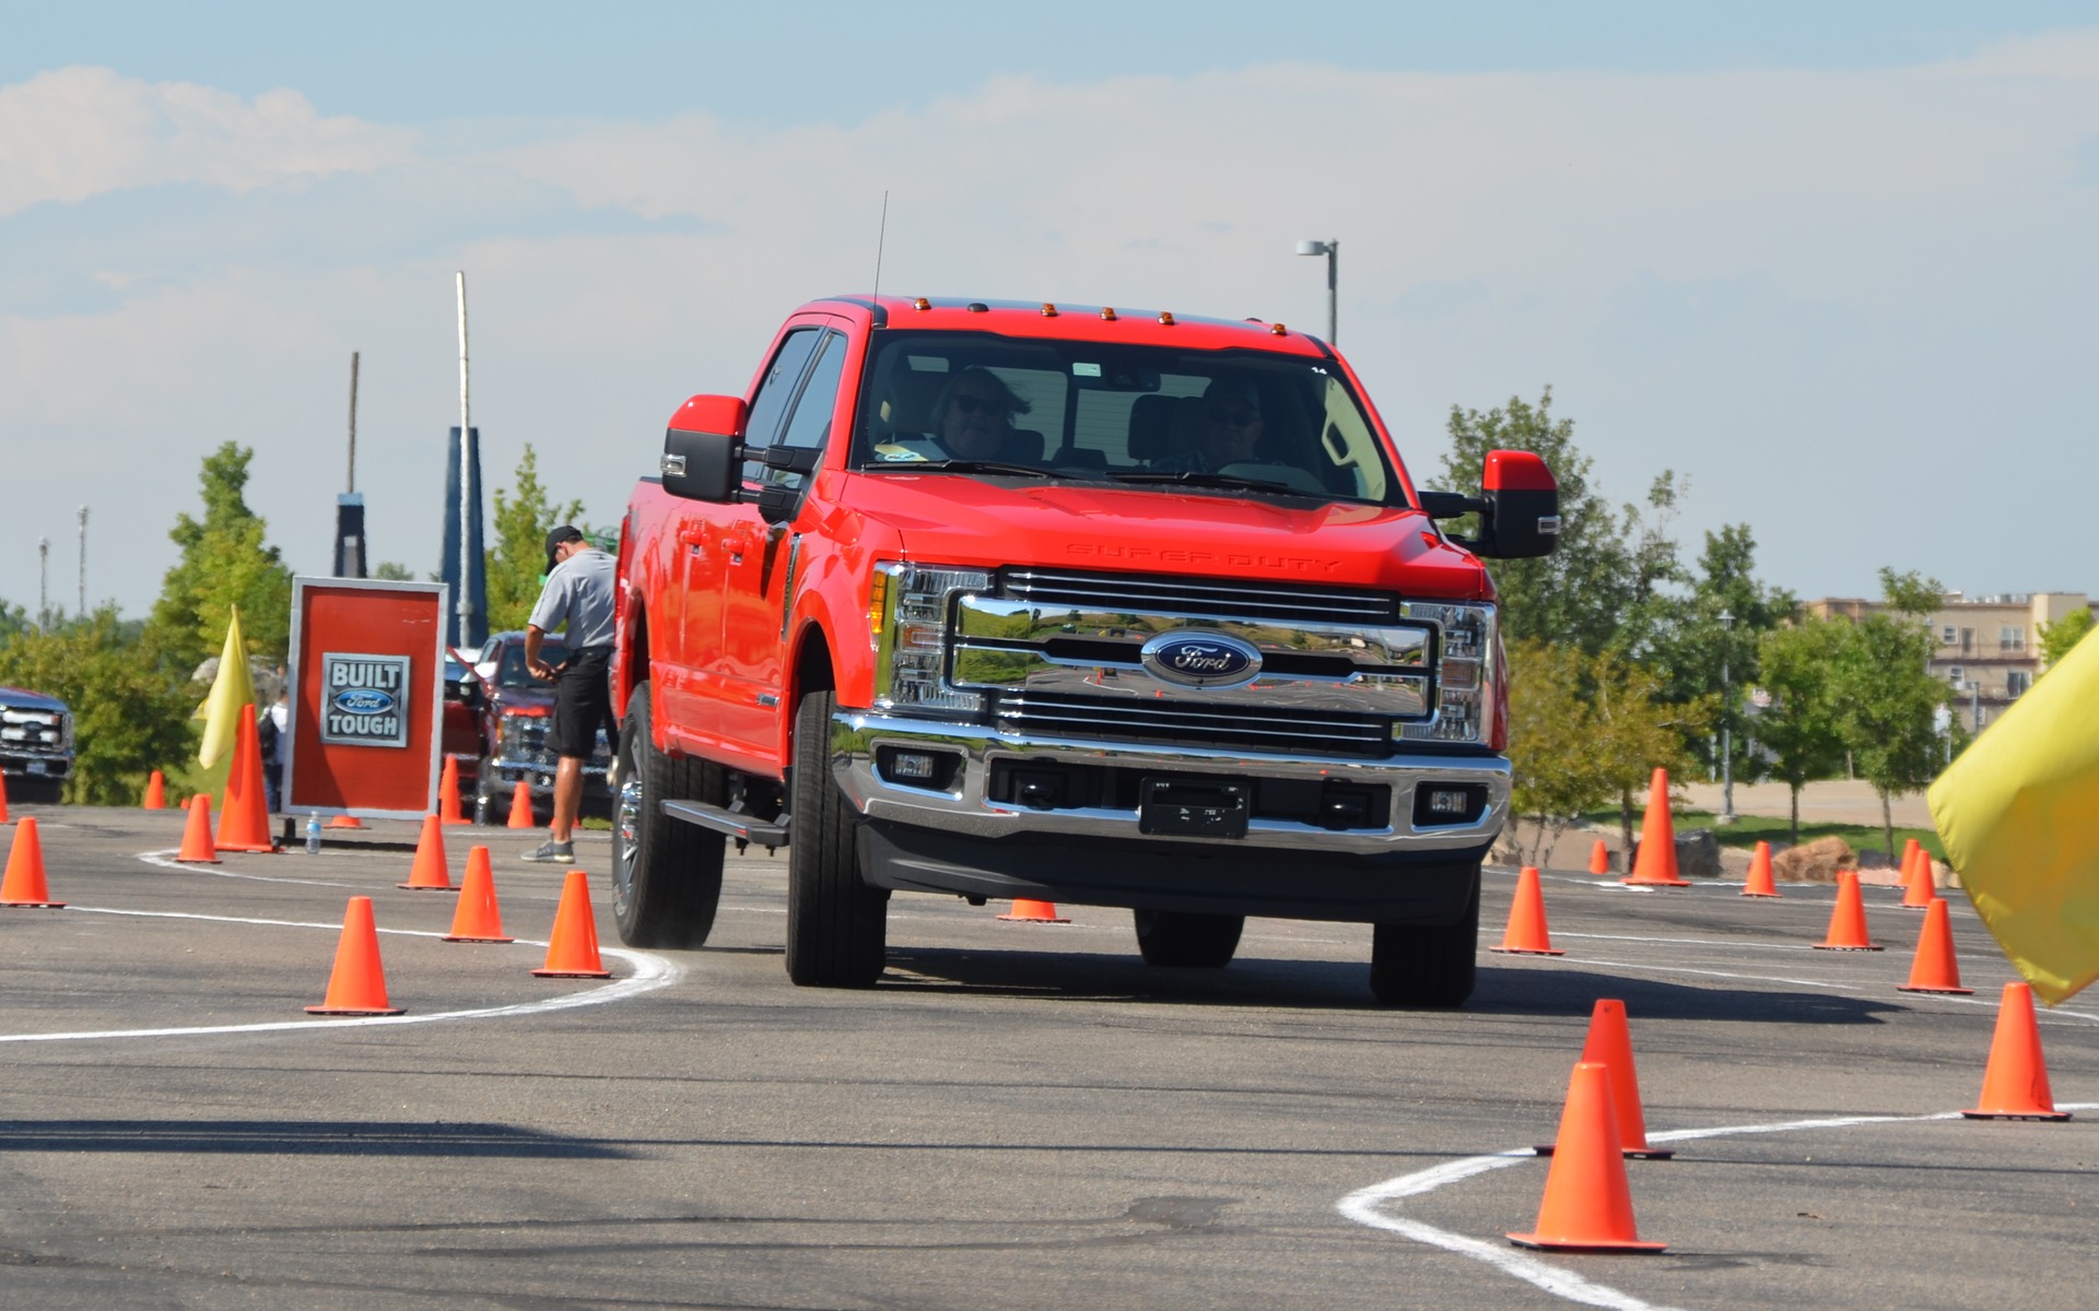
MULTIPOLYGON (((569 644, 550 633, 539 646, 539 654, 550 665, 560 665, 569 657, 569 644)), ((554 724, 554 684, 539 682, 525 667, 523 631, 491 636, 474 661, 474 673, 481 682, 479 757, 472 761, 472 770, 466 761, 460 764, 460 795, 472 797, 476 824, 504 824, 510 820, 510 799, 523 778, 531 787, 533 818, 550 818, 556 757, 546 745, 546 734, 554 724), (470 793, 468 774, 474 778, 470 793)), ((613 747, 600 728, 596 751, 584 761, 586 814, 611 814, 611 791, 605 782, 611 764, 613 747)))

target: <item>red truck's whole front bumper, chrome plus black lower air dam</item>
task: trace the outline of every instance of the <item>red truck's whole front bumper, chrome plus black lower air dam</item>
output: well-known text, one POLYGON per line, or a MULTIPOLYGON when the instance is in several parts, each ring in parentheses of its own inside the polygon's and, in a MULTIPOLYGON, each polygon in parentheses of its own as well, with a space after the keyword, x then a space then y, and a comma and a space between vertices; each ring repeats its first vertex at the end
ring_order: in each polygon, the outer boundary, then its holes
MULTIPOLYGON (((1492 755, 1249 757, 1144 745, 1001 736, 989 728, 840 711, 831 768, 867 822, 858 858, 869 883, 982 900, 1039 898, 1205 915, 1270 915, 1358 923, 1455 923, 1467 912, 1480 860, 1509 810, 1509 764, 1492 755), (882 772, 884 749, 961 757, 945 789, 882 772), (1387 795, 1350 826, 1247 820, 1245 837, 1144 833, 1138 805, 1031 808, 987 797, 997 766, 1217 778, 1255 789, 1280 780, 1387 795), (1415 791, 1469 785, 1476 818, 1417 824, 1415 791), (1383 791, 1379 791, 1383 789, 1383 791)), ((1127 791, 1127 789, 1125 789, 1127 791)))

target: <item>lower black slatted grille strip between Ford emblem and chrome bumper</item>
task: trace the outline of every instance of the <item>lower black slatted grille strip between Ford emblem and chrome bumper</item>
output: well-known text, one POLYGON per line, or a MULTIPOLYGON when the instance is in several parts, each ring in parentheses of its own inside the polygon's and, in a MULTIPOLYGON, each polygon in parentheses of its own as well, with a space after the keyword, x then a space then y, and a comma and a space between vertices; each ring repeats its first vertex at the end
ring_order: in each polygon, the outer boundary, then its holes
POLYGON ((1383 757, 1392 749, 1387 722, 1375 715, 1043 692, 999 696, 995 713, 1003 732, 1026 736, 1112 738, 1280 755, 1383 757))

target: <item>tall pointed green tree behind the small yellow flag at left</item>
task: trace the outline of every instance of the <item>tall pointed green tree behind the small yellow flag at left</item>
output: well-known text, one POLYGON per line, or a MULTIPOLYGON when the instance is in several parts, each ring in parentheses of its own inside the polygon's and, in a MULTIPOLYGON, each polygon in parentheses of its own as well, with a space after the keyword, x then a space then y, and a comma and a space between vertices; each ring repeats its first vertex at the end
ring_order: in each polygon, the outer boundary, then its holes
POLYGON ((183 554, 162 579, 147 629, 149 646, 185 675, 225 646, 235 604, 252 654, 283 663, 290 646, 292 571, 262 541, 269 524, 241 495, 252 459, 254 449, 235 443, 206 455, 204 518, 178 514, 168 531, 183 554))

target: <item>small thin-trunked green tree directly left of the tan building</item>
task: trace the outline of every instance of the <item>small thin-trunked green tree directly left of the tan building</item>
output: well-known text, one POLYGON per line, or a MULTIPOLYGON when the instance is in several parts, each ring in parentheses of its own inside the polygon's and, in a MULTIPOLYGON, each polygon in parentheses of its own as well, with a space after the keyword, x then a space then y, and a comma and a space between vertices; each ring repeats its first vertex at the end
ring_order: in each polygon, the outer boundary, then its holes
POLYGON ((1952 690, 1931 675, 1927 617, 1944 589, 1916 573, 1881 571, 1887 608, 1849 625, 1839 648, 1835 699, 1845 745, 1860 776, 1881 797, 1887 858, 1895 858, 1893 797, 1937 778, 1944 743, 1937 711, 1952 690))

